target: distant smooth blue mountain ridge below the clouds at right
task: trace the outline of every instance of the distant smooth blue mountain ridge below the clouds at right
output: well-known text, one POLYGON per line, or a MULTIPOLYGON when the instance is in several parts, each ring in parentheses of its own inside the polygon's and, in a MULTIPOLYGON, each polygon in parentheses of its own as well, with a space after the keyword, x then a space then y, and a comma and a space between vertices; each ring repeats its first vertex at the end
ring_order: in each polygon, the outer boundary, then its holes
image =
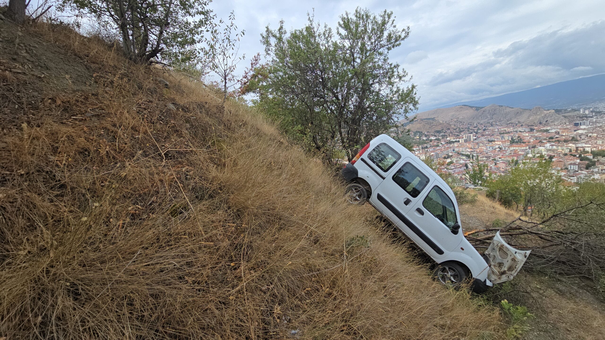
POLYGON ((548 109, 567 109, 591 107, 594 104, 604 102, 605 74, 598 74, 497 97, 463 101, 462 103, 448 104, 436 108, 460 105, 483 107, 497 104, 523 109, 531 109, 535 106, 547 107, 548 109))

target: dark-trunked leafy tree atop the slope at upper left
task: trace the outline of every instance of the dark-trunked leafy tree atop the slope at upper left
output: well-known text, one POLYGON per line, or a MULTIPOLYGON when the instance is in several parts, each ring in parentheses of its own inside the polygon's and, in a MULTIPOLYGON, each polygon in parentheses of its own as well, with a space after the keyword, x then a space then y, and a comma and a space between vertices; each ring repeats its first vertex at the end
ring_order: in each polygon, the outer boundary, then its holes
POLYGON ((119 36, 126 57, 136 63, 191 63, 212 21, 210 0, 63 0, 69 8, 92 16, 119 36))

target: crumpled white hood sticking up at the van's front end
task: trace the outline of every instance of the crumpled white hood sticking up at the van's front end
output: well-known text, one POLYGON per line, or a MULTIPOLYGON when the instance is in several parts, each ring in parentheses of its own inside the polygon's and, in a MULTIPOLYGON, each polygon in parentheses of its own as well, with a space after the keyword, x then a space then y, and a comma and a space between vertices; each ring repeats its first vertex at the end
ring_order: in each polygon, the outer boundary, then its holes
POLYGON ((500 231, 496 233, 488 250, 485 251, 489 266, 489 281, 500 283, 512 280, 521 270, 530 252, 530 250, 520 251, 512 248, 502 239, 500 231))

